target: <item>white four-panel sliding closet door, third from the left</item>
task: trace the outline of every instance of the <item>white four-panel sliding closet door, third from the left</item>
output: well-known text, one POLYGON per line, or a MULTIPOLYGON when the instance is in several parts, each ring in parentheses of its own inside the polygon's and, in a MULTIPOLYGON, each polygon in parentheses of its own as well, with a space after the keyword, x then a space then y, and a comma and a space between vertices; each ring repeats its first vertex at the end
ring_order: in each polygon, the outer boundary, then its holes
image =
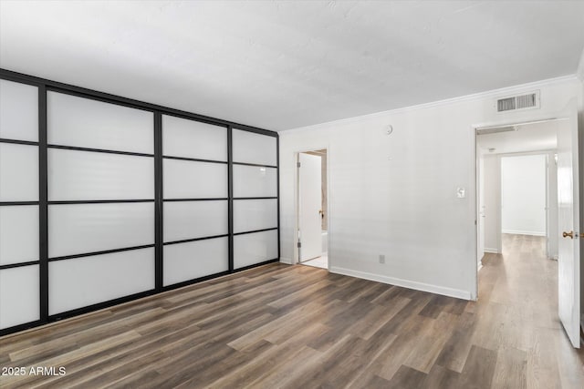
POLYGON ((163 285, 228 271, 227 128, 164 115, 162 155, 163 285))

